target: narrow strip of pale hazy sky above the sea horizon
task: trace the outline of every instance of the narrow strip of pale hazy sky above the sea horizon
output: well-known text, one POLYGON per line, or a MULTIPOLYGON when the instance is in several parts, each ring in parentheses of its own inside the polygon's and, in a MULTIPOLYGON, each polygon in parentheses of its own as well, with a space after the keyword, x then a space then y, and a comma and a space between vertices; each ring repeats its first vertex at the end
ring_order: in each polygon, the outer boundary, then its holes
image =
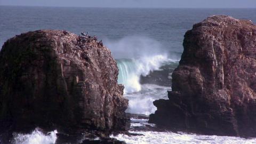
POLYGON ((0 5, 82 7, 253 7, 256 0, 0 0, 0 5))

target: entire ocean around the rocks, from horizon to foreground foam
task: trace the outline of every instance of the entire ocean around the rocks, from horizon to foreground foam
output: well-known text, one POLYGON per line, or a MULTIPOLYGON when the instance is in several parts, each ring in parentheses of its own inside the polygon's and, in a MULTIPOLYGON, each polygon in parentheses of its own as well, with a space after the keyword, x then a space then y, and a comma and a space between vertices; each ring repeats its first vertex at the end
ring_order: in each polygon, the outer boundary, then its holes
MULTIPOLYGON (((124 84, 124 97, 129 99, 126 112, 146 117, 132 118, 130 130, 143 135, 111 135, 118 140, 126 143, 256 143, 256 139, 134 128, 155 126, 147 123, 147 116, 156 110, 154 100, 167 99, 171 74, 183 51, 183 35, 211 15, 230 15, 256 22, 256 9, 0 6, 0 45, 15 35, 38 29, 62 29, 75 34, 84 31, 102 39, 117 61, 118 83, 124 84)), ((12 143, 54 143, 56 133, 45 135, 36 129, 31 134, 14 134, 12 143)))

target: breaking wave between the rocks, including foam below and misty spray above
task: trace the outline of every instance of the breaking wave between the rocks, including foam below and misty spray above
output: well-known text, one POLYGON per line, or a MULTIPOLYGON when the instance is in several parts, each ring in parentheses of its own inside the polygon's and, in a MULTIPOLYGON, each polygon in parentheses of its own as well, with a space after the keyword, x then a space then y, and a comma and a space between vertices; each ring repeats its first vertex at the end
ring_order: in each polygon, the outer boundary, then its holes
POLYGON ((103 39, 103 42, 117 60, 118 83, 125 86, 124 97, 129 99, 126 112, 145 115, 154 113, 156 107, 153 101, 167 98, 167 90, 171 87, 141 85, 140 77, 148 75, 150 71, 160 70, 159 68, 165 63, 176 62, 176 57, 173 60, 172 55, 169 57, 169 49, 147 36, 133 35, 115 40, 103 39), (162 92, 164 93, 160 94, 162 92))

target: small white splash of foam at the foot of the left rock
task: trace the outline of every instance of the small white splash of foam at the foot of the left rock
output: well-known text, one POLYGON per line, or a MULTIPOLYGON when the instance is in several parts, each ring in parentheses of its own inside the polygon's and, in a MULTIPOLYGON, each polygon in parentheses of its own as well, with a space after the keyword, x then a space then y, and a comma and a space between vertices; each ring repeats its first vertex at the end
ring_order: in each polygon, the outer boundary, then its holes
POLYGON ((54 144, 57 140, 57 130, 44 134, 35 129, 30 134, 14 133, 12 143, 14 144, 54 144))

